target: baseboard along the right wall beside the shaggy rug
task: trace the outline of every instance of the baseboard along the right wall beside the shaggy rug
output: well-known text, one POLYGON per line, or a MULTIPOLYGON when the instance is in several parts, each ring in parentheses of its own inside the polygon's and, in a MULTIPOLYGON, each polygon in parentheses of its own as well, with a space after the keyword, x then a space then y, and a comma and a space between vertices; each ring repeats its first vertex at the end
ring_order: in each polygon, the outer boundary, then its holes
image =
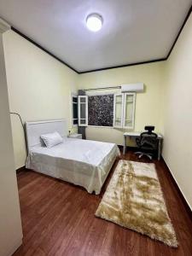
POLYGON ((177 189, 178 194, 179 194, 179 195, 181 196, 181 198, 182 198, 184 207, 186 208, 187 212, 189 212, 189 215, 190 215, 191 218, 192 218, 192 208, 190 207, 189 202, 188 202, 187 199, 185 198, 182 189, 179 187, 176 178, 175 178, 174 175, 172 174, 171 168, 167 165, 166 160, 164 159, 164 157, 163 157, 162 155, 161 155, 161 157, 162 157, 162 160, 163 160, 164 164, 166 165, 166 168, 167 168, 167 171, 168 171, 168 173, 169 173, 169 176, 170 176, 171 179, 172 179, 172 183, 174 184, 174 186, 175 186, 176 189, 177 189))

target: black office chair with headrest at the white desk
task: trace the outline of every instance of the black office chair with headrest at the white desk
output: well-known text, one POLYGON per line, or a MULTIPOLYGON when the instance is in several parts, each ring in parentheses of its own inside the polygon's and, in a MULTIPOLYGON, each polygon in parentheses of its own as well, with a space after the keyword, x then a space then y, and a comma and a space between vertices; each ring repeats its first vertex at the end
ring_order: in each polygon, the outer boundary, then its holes
POLYGON ((137 147, 139 148, 138 158, 142 158, 143 155, 148 156, 150 160, 157 153, 158 137, 154 131, 154 126, 145 126, 145 131, 141 133, 140 137, 136 138, 137 147))

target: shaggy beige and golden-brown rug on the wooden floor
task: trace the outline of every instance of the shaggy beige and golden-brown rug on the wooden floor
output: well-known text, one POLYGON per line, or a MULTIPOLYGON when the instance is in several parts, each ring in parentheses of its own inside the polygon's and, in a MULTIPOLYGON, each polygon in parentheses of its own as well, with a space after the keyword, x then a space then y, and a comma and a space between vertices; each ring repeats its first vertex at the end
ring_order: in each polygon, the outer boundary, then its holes
POLYGON ((96 217, 177 247, 154 164, 119 160, 96 217))

